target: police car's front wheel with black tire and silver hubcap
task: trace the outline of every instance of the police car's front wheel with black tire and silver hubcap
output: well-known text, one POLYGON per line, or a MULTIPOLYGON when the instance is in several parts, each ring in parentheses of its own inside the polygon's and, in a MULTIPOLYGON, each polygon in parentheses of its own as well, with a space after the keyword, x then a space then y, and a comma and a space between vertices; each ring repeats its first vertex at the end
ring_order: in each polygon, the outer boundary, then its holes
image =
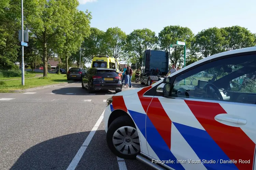
POLYGON ((128 115, 116 118, 109 126, 106 142, 118 157, 136 159, 140 153, 140 140, 136 126, 128 115))

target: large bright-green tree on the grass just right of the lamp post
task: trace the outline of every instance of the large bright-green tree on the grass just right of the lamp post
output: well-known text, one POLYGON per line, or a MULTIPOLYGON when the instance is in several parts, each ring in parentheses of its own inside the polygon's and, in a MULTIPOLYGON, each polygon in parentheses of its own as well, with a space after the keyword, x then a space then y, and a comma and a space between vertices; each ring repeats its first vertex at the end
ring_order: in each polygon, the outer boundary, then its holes
MULTIPOLYGON (((28 1, 24 6, 31 5, 28 1)), ((43 76, 47 76, 47 48, 50 44, 57 43, 61 48, 65 43, 64 33, 72 27, 73 14, 79 5, 77 0, 47 0, 38 1, 34 6, 36 12, 30 15, 25 13, 25 26, 35 35, 40 42, 43 52, 43 76)))

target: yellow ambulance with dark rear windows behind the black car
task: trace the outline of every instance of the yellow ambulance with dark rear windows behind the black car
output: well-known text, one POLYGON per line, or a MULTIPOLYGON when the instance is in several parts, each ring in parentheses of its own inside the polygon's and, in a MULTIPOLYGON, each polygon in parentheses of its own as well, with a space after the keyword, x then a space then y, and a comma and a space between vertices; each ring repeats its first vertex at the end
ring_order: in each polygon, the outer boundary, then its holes
POLYGON ((107 55, 96 55, 93 57, 91 62, 91 68, 112 68, 115 69, 118 75, 122 78, 122 70, 120 68, 119 62, 107 55))

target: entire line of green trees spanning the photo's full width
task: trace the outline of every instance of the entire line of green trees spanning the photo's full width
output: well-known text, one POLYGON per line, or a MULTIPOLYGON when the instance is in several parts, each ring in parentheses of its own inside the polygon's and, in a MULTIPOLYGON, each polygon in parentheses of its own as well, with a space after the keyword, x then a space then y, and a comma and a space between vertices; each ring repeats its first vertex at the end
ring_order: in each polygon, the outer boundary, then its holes
MULTIPOLYGON (((180 26, 167 26, 158 36, 147 28, 128 35, 118 27, 104 32, 90 28, 91 14, 77 10, 78 5, 77 0, 24 1, 24 26, 29 30, 24 60, 42 65, 44 76, 49 58, 61 61, 67 70, 74 62, 79 66, 80 45, 81 63, 90 63, 100 54, 137 66, 148 49, 167 51, 172 63, 183 63, 183 47, 170 47, 177 40, 186 42, 186 65, 219 52, 256 45, 256 34, 240 26, 209 28, 196 35, 180 26)), ((2 0, 0 6, 0 69, 10 69, 22 57, 18 42, 20 1, 2 0)))

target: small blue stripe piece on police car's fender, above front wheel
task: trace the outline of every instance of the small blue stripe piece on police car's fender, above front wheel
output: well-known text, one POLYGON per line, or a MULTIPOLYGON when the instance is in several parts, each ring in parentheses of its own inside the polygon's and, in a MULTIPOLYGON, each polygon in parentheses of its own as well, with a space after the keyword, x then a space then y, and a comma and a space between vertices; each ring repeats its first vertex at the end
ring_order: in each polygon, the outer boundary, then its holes
POLYGON ((131 110, 128 110, 128 112, 130 113, 132 119, 134 120, 135 124, 138 126, 143 136, 146 138, 146 129, 145 129, 146 115, 139 112, 134 112, 131 110))

